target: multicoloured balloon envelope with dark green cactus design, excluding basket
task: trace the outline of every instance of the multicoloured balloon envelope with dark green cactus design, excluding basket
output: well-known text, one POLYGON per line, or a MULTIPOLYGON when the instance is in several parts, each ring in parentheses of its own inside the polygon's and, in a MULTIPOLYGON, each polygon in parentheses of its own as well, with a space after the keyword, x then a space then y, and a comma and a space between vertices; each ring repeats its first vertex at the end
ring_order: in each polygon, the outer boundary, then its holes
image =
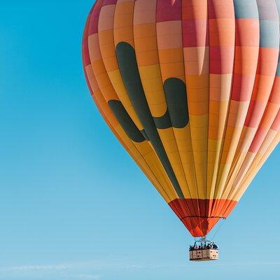
POLYGON ((193 237, 280 140, 280 0, 97 0, 83 66, 104 120, 193 237))

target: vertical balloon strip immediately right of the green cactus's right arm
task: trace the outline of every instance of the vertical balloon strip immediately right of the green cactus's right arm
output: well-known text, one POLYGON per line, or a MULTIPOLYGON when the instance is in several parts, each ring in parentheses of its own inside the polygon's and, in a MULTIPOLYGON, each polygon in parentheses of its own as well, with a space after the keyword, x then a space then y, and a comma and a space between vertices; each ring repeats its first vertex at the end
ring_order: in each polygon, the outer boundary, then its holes
POLYGON ((207 197, 209 25, 207 0, 182 0, 183 55, 199 198, 207 197))

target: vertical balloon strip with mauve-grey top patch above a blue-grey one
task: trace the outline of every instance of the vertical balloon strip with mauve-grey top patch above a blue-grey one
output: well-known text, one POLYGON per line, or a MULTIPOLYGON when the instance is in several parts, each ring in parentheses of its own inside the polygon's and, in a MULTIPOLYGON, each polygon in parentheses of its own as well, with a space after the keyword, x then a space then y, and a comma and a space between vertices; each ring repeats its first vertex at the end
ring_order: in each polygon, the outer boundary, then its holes
POLYGON ((223 194, 225 197, 228 197, 231 189, 235 188, 238 183, 238 173, 258 130, 269 95, 272 92, 279 57, 279 16, 276 3, 274 0, 258 0, 257 5, 260 22, 258 69, 251 102, 228 179, 228 191, 223 194))

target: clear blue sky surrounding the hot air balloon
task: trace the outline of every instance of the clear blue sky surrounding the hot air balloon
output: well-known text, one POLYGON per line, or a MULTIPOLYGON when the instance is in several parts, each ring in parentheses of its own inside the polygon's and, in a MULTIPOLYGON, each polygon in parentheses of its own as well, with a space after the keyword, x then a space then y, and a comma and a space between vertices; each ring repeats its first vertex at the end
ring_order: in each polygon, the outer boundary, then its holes
POLYGON ((193 239, 87 90, 92 2, 1 3, 0 279, 279 279, 279 148, 216 235, 221 259, 188 262, 193 239))

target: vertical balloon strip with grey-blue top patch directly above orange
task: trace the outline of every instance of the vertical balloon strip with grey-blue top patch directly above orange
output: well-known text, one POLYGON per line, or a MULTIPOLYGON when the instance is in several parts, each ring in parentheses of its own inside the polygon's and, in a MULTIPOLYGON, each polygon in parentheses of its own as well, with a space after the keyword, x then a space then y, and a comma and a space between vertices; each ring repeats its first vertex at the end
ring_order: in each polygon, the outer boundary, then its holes
MULTIPOLYGON (((223 194, 230 191, 230 186, 226 184, 226 181, 245 123, 258 66, 260 41, 258 5, 256 1, 252 0, 235 0, 233 3, 235 8, 235 62, 228 121, 214 195, 217 199, 221 199, 223 194)), ((226 198, 227 195, 223 195, 223 197, 226 198)), ((223 203, 217 200, 212 211, 216 212, 222 208, 223 203)))

